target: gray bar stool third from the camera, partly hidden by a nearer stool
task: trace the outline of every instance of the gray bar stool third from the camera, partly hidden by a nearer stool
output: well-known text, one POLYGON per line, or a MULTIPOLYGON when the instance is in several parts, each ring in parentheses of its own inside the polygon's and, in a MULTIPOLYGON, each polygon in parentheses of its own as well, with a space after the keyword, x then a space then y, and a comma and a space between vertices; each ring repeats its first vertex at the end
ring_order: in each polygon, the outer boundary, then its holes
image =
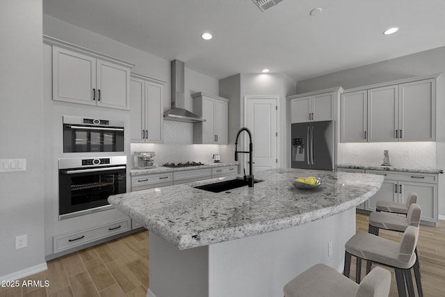
MULTIPOLYGON (((421 218, 421 207, 419 204, 412 203, 408 209, 407 216, 395 216, 394 214, 389 214, 385 212, 372 212, 369 215, 369 229, 368 232, 374 235, 378 235, 380 229, 405 232, 408 226, 419 227, 421 218)), ((416 253, 416 263, 414 264, 414 276, 416 277, 416 285, 419 296, 423 296, 421 275, 420 275, 420 265, 419 265, 419 255, 417 254, 417 248, 414 249, 416 253)), ((366 264, 366 273, 371 270, 371 262, 366 264)))

